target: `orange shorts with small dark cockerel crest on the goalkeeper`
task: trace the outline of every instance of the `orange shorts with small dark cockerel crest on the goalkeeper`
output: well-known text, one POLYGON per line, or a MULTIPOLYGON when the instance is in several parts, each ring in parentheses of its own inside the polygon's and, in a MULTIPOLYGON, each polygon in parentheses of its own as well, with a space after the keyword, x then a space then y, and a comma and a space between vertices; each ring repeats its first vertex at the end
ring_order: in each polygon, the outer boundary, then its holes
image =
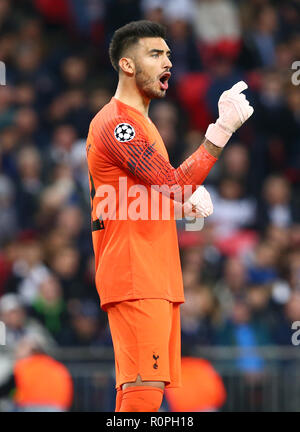
POLYGON ((114 345, 116 388, 164 381, 181 386, 180 304, 162 299, 129 300, 107 308, 114 345))

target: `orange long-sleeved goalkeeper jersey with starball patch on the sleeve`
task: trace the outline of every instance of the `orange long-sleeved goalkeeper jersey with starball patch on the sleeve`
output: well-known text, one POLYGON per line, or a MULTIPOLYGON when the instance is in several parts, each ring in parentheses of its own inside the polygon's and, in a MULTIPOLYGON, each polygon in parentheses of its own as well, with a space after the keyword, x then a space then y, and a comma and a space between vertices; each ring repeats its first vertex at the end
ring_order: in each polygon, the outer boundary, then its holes
MULTIPOLYGON (((197 178, 201 184, 216 159, 205 150, 198 159, 206 166, 203 178, 197 178)), ((96 286, 102 308, 142 298, 183 302, 172 200, 153 191, 151 185, 190 184, 189 168, 175 170, 151 120, 114 97, 90 124, 87 160, 96 286), (150 209, 157 197, 161 205, 158 217, 153 218, 150 209), (169 203, 169 218, 162 215, 163 202, 169 203), (141 207, 144 213, 139 219, 135 215, 141 207)))

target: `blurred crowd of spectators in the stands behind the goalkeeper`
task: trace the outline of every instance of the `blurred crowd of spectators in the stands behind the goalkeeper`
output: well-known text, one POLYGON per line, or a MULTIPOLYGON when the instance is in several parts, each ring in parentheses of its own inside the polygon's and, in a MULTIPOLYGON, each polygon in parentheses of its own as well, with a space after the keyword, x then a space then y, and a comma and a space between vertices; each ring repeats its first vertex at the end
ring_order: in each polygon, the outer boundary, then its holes
MULTIPOLYGON (((205 181, 214 214, 204 229, 178 222, 183 354, 218 376, 211 409, 299 411, 299 0, 0 0, 0 388, 35 333, 72 376, 71 410, 114 410, 85 139, 116 88, 110 38, 142 18, 168 29, 172 79, 150 116, 173 166, 201 143, 235 82, 248 83, 255 109, 205 181)), ((15 409, 13 398, 1 409, 15 409)))

